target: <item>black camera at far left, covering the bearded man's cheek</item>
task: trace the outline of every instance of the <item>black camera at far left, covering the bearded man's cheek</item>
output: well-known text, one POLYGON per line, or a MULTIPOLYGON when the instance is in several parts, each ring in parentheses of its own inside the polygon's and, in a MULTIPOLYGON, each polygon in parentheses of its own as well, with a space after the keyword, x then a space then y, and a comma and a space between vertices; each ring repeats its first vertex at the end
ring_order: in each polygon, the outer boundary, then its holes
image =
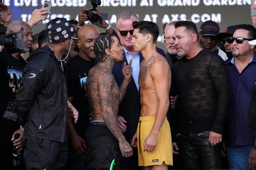
POLYGON ((9 54, 17 53, 24 50, 23 44, 23 27, 18 32, 10 32, 8 35, 0 36, 0 45, 5 46, 9 54))

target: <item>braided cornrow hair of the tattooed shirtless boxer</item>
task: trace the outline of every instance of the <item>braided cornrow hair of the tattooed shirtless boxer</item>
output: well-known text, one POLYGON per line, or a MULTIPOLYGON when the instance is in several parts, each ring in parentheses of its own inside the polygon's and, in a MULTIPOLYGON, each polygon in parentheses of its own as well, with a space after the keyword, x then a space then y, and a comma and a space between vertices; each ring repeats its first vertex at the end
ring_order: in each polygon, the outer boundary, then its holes
POLYGON ((105 49, 111 48, 112 44, 114 43, 113 34, 103 34, 97 37, 94 41, 94 53, 96 55, 98 62, 103 62, 109 60, 105 53, 105 49))

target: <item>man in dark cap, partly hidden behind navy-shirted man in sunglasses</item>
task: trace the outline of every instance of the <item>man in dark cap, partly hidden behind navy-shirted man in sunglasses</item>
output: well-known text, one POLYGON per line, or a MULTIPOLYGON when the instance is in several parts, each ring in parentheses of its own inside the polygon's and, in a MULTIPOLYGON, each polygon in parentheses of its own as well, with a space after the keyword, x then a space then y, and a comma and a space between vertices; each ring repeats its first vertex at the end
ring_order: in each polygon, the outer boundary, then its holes
POLYGON ((233 57, 229 42, 229 37, 232 37, 235 30, 237 30, 238 25, 231 25, 226 28, 225 32, 218 33, 216 39, 221 41, 225 46, 225 52, 227 54, 228 60, 233 57))

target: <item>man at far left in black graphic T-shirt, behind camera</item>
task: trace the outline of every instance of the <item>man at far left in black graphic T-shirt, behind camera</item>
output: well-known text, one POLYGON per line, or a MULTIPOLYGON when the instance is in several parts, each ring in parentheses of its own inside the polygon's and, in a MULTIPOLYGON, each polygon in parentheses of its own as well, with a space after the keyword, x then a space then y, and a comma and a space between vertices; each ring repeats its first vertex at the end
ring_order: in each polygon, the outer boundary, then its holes
MULTIPOLYGON (((32 29, 30 25, 23 21, 11 22, 4 32, 18 32, 23 27, 24 31, 24 49, 13 54, 8 54, 5 49, 0 51, 0 145, 1 156, 0 164, 3 167, 11 169, 13 162, 12 148, 23 149, 23 131, 17 123, 16 108, 14 105, 15 95, 19 92, 22 71, 26 65, 26 61, 21 57, 22 53, 29 51, 32 42, 32 29), (17 140, 14 140, 14 134, 20 134, 17 140)), ((1 27, 2 28, 2 27, 1 27)), ((9 44, 7 44, 8 46, 9 44)), ((6 45, 5 45, 6 46, 6 45)))

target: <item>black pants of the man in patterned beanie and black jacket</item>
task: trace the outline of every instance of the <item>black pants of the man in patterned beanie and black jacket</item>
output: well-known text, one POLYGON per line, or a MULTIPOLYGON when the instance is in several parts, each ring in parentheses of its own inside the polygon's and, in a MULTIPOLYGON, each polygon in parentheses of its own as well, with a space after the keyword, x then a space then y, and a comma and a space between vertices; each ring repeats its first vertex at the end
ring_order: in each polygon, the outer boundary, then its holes
POLYGON ((28 170, 64 170, 68 154, 68 135, 64 142, 24 135, 24 159, 28 170))

